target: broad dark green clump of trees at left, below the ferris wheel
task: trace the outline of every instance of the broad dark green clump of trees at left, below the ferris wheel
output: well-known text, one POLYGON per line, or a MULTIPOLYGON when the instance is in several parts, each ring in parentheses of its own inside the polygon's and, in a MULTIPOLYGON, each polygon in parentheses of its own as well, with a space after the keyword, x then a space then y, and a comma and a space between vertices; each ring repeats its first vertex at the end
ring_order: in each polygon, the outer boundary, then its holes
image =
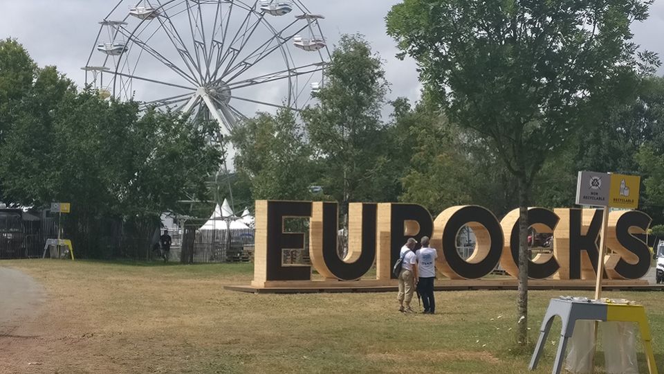
MULTIPOLYGON (((208 175, 221 163, 212 123, 79 93, 55 68, 39 69, 19 102, 0 149, 5 198, 24 206, 72 202, 66 231, 84 257, 108 256, 100 240, 109 222, 154 230, 161 213, 178 211, 178 200, 205 199, 208 175)), ((124 254, 140 256, 139 247, 124 254)))

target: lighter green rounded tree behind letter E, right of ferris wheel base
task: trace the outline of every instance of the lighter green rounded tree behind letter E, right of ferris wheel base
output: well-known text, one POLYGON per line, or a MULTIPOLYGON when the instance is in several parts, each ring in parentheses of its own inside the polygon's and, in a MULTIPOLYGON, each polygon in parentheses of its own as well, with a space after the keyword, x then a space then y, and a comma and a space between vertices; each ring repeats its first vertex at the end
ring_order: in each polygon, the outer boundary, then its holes
POLYGON ((237 127, 230 141, 237 149, 237 183, 248 184, 253 199, 311 197, 311 148, 293 112, 260 113, 237 127))

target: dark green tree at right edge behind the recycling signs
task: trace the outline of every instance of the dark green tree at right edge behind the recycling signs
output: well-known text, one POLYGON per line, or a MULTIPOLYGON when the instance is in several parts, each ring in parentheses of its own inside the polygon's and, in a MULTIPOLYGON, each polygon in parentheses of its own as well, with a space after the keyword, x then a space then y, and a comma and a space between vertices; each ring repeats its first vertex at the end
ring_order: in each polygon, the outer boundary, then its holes
MULTIPOLYGON (((644 184, 652 183, 654 179, 649 177, 661 163, 657 154, 664 141, 660 136, 664 130, 664 78, 645 76, 635 83, 623 91, 625 103, 607 108, 596 130, 574 134, 562 152, 544 163, 533 182, 535 204, 573 204, 579 170, 640 174, 644 184)), ((640 209, 655 222, 664 222, 661 203, 655 186, 642 190, 640 209)))

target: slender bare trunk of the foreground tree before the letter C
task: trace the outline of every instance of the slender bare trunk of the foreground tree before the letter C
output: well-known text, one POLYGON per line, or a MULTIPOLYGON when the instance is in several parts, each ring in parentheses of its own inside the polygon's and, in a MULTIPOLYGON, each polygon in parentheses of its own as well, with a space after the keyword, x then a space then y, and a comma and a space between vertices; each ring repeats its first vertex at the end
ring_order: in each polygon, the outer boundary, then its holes
POLYGON ((528 343, 528 185, 526 177, 519 176, 519 296, 517 309, 519 312, 518 335, 519 345, 528 343))

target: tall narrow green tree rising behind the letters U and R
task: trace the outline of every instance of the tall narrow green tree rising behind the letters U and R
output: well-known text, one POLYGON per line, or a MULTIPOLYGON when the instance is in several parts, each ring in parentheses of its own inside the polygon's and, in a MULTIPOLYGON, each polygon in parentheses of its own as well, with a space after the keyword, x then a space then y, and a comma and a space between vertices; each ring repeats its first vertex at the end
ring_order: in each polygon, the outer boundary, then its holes
POLYGON ((398 177, 391 170, 386 126, 380 120, 387 82, 380 57, 358 35, 343 35, 326 67, 318 103, 302 118, 322 168, 324 193, 341 202, 345 217, 351 201, 396 197, 398 177))

